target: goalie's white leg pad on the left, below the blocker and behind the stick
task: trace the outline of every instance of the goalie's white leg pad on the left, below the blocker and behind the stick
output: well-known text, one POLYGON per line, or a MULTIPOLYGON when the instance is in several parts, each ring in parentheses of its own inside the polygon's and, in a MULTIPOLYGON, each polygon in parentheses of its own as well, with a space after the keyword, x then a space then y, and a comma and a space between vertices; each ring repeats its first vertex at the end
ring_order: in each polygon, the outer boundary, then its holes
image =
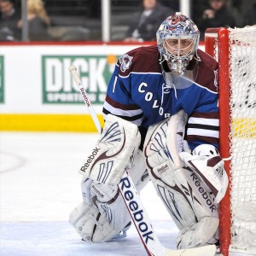
MULTIPOLYGON (((129 173, 137 191, 148 183, 148 171, 140 150, 135 154, 129 173)), ((84 202, 71 212, 70 223, 84 241, 109 241, 129 228, 130 213, 117 185, 97 183, 83 177, 81 188, 84 202)))

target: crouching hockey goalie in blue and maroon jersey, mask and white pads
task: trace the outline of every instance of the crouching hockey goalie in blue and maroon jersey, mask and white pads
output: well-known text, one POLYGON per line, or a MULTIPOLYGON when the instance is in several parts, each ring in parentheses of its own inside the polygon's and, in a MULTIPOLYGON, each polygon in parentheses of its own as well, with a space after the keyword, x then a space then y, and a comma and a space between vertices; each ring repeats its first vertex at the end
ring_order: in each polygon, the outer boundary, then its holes
MULTIPOLYGON (((103 106, 105 125, 79 172, 83 201, 70 223, 84 241, 126 235, 131 216, 118 183, 152 182, 180 230, 177 248, 218 243, 218 203, 228 178, 218 153, 218 63, 198 49, 195 23, 176 13, 157 45, 119 58, 103 106)), ((154 206, 153 206, 154 207, 154 206)))

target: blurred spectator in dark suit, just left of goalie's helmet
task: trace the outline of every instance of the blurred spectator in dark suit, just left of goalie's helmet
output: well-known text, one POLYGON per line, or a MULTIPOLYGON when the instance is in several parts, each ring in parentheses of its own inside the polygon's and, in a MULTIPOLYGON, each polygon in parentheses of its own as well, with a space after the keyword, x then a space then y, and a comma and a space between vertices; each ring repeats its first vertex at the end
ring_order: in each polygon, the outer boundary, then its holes
POLYGON ((131 19, 131 26, 125 34, 125 42, 155 41, 159 24, 175 13, 157 0, 142 0, 142 3, 142 10, 131 19))

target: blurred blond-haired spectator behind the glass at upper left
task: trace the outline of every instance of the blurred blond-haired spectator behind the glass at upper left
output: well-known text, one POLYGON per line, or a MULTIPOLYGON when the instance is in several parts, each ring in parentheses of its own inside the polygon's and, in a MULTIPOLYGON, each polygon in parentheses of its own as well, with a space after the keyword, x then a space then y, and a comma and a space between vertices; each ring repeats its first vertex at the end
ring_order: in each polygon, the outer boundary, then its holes
MULTIPOLYGON (((42 0, 27 0, 28 38, 30 41, 49 41, 49 16, 44 9, 42 0)), ((19 20, 18 27, 22 29, 23 21, 19 20)))

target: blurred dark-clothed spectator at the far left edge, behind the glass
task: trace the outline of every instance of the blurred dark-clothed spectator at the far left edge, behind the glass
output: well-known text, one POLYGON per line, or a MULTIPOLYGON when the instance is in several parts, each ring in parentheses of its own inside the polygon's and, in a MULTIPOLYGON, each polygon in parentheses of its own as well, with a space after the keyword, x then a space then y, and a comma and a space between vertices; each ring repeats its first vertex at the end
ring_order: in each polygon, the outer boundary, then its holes
POLYGON ((20 31, 17 22, 20 14, 15 10, 11 0, 0 0, 0 41, 20 40, 20 31))

